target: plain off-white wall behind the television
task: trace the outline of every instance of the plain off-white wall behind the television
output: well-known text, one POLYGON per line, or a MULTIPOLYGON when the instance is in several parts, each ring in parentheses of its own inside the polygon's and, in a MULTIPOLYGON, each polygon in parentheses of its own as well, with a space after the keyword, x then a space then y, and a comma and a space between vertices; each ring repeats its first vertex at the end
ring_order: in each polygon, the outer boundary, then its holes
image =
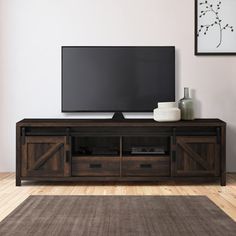
POLYGON ((15 168, 16 121, 65 117, 61 45, 175 45, 177 99, 189 86, 197 117, 228 123, 236 171, 236 57, 194 56, 193 0, 0 0, 0 171, 15 168))

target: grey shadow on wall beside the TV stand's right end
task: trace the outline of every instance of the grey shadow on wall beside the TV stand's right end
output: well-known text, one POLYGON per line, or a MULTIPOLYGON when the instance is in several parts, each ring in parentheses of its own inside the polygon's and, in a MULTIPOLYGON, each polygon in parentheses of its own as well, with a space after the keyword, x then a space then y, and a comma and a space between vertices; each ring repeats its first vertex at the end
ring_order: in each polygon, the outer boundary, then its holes
POLYGON ((226 128, 226 170, 229 172, 235 172, 236 166, 236 126, 227 124, 226 128), (234 169, 233 169, 234 168, 234 169))

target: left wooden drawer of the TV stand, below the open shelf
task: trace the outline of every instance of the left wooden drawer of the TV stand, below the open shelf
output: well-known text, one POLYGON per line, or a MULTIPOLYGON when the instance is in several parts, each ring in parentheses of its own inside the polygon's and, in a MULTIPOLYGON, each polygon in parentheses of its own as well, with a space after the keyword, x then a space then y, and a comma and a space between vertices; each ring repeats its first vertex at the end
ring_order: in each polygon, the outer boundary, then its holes
POLYGON ((113 156, 72 157, 72 176, 119 176, 120 158, 113 156))

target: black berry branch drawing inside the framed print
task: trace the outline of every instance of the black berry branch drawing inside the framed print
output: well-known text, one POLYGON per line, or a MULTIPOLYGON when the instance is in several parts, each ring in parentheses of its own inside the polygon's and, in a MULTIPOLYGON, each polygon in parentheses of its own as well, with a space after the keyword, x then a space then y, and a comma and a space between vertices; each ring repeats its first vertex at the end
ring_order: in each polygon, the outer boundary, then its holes
POLYGON ((209 1, 202 1, 199 3, 199 5, 202 7, 202 9, 200 11, 199 18, 204 18, 206 15, 211 14, 212 22, 210 24, 200 25, 200 27, 198 27, 197 36, 199 37, 202 34, 204 36, 208 33, 209 29, 213 28, 214 26, 218 26, 219 43, 216 46, 216 48, 219 48, 220 45, 222 44, 222 40, 223 40, 223 31, 230 30, 231 32, 234 32, 234 27, 229 24, 223 24, 223 22, 222 22, 223 20, 219 16, 219 11, 222 6, 222 1, 218 1, 217 4, 216 3, 212 4, 209 1))

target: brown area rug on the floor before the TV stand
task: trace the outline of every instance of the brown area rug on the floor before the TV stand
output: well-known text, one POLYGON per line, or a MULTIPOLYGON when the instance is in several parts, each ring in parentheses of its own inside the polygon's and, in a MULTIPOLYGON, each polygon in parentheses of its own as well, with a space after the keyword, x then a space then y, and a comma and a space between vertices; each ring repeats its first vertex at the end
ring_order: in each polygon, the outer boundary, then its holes
POLYGON ((203 196, 30 196, 0 235, 235 236, 236 223, 203 196))

